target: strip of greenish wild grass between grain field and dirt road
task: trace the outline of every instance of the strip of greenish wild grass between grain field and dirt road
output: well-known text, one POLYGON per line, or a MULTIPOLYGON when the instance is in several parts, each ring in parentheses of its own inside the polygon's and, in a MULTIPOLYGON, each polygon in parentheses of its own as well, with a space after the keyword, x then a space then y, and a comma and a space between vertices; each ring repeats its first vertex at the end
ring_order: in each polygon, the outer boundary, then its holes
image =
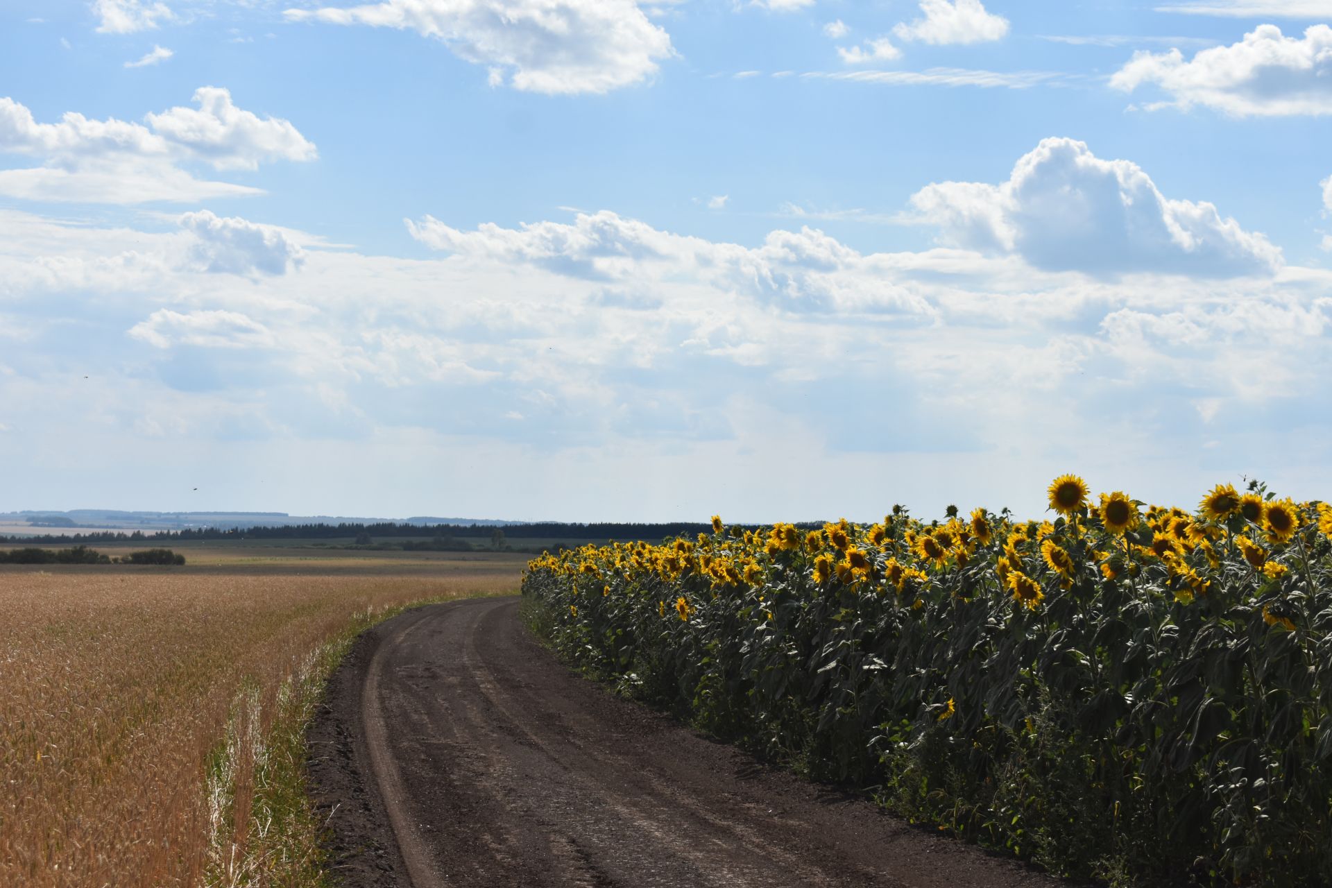
POLYGON ((242 687, 232 703, 225 738, 208 758, 205 885, 330 888, 337 884, 326 867, 325 821, 308 793, 306 728, 329 678, 358 635, 406 610, 450 600, 461 598, 372 607, 306 654, 269 699, 264 699, 256 683, 242 687))

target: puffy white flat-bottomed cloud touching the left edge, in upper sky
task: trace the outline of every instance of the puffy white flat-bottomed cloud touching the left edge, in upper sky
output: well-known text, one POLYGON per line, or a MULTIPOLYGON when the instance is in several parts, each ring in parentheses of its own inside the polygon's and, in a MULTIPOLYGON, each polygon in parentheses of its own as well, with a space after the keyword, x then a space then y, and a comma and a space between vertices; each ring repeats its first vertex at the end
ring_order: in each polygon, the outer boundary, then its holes
POLYGON ((200 88, 194 101, 198 108, 148 114, 148 125, 89 120, 76 112, 41 124, 24 105, 0 97, 0 153, 44 161, 39 168, 0 170, 0 194, 105 204, 237 197, 261 192, 196 178, 181 164, 257 169, 261 162, 317 157, 314 145, 289 121, 237 108, 226 89, 200 88))

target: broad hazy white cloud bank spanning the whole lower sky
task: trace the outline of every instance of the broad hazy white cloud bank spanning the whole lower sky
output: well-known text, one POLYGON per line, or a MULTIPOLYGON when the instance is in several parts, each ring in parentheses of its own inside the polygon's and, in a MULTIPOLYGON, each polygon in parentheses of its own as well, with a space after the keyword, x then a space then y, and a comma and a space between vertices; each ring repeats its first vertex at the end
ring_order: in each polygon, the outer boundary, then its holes
POLYGON ((1039 515, 1068 458, 1155 501, 1240 473, 1292 495, 1332 483, 1329 272, 1095 278, 1015 254, 862 253, 813 229, 725 244, 607 212, 416 228, 440 257, 310 250, 300 274, 237 277, 189 262, 186 230, 0 210, 0 330, 24 330, 5 338, 0 457, 117 454, 125 471, 97 481, 112 499, 140 490, 116 486, 140 457, 170 483, 224 455, 281 465, 236 495, 286 485, 284 509, 336 465, 406 466, 309 511, 446 497, 511 465, 529 474, 477 509, 570 519, 954 499, 1039 515), (1090 446, 1091 426, 1114 445, 1090 446), (1255 461, 1271 427, 1281 451, 1255 461), (1205 466, 1203 441, 1219 442, 1205 466), (436 477, 413 469, 413 486, 409 469, 425 463, 457 474, 422 493, 436 477), (859 482, 818 483, 832 473, 859 482))

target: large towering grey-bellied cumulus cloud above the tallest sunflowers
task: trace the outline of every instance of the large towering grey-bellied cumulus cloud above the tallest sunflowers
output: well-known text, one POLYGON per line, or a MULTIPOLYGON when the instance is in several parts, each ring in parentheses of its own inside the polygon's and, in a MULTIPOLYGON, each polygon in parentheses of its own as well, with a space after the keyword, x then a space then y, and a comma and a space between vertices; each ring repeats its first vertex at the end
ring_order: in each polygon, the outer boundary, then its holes
POLYGON ((1281 252, 1208 202, 1171 200, 1136 164, 1047 138, 1007 182, 939 182, 911 197, 947 242, 1088 274, 1271 274, 1281 252))

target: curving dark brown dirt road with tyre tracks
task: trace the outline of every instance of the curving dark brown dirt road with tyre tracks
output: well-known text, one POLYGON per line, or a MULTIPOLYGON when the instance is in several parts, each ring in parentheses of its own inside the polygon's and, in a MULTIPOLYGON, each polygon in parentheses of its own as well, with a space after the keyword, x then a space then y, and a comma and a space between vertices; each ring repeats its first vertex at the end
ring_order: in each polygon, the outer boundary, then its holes
POLYGON ((344 884, 1062 884, 606 694, 517 610, 408 611, 333 676, 310 783, 344 884))

